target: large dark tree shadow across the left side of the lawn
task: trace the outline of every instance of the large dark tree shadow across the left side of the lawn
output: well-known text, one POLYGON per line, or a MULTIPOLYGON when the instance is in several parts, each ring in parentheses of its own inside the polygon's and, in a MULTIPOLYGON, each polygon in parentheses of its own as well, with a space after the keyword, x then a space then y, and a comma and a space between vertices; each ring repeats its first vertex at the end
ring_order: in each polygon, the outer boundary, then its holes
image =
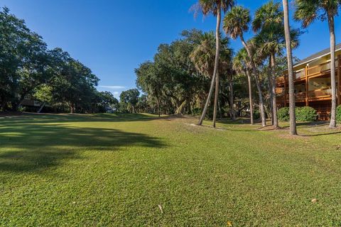
MULTIPOLYGON (((159 138, 107 128, 76 128, 62 124, 5 123, 0 126, 0 171, 36 172, 82 158, 80 152, 114 152, 124 146, 161 148, 159 138)), ((53 122, 53 121, 52 121, 53 122)))

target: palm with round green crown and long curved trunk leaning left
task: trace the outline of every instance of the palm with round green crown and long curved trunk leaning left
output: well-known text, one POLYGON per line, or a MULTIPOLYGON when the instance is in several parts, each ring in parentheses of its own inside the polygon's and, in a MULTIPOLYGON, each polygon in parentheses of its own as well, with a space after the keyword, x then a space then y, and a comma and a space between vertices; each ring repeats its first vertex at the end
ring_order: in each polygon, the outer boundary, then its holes
POLYGON ((249 23, 251 21, 250 11, 248 9, 244 9, 242 6, 234 6, 229 13, 224 18, 224 31, 231 36, 231 38, 236 39, 240 38, 242 44, 244 45, 245 50, 247 50, 247 55, 249 56, 249 60, 252 67, 252 72, 256 79, 256 87, 258 89, 259 94, 259 109, 261 112, 261 126, 266 126, 266 118, 264 111, 264 101, 263 96, 261 94, 261 84, 259 81, 259 74, 256 68, 256 64, 253 59, 253 53, 251 52, 251 48, 244 40, 244 32, 249 31, 249 23))

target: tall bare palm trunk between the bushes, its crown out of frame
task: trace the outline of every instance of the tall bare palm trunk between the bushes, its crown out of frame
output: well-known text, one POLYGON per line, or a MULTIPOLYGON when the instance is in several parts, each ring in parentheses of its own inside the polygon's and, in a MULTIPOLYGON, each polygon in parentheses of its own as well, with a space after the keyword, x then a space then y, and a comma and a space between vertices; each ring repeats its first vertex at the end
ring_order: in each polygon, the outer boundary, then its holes
POLYGON ((293 55, 291 52, 288 0, 283 0, 283 14, 284 14, 284 31, 286 35, 286 55, 288 59, 290 134, 297 135, 296 115, 295 115, 295 94, 294 94, 295 84, 293 84, 293 55))

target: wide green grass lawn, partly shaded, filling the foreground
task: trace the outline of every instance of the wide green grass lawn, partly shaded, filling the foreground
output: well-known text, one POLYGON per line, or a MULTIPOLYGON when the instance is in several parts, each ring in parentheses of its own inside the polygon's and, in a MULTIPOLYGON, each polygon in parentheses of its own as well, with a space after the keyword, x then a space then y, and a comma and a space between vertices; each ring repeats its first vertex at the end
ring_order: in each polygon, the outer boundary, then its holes
POLYGON ((0 226, 341 225, 340 129, 195 122, 0 118, 0 226))

